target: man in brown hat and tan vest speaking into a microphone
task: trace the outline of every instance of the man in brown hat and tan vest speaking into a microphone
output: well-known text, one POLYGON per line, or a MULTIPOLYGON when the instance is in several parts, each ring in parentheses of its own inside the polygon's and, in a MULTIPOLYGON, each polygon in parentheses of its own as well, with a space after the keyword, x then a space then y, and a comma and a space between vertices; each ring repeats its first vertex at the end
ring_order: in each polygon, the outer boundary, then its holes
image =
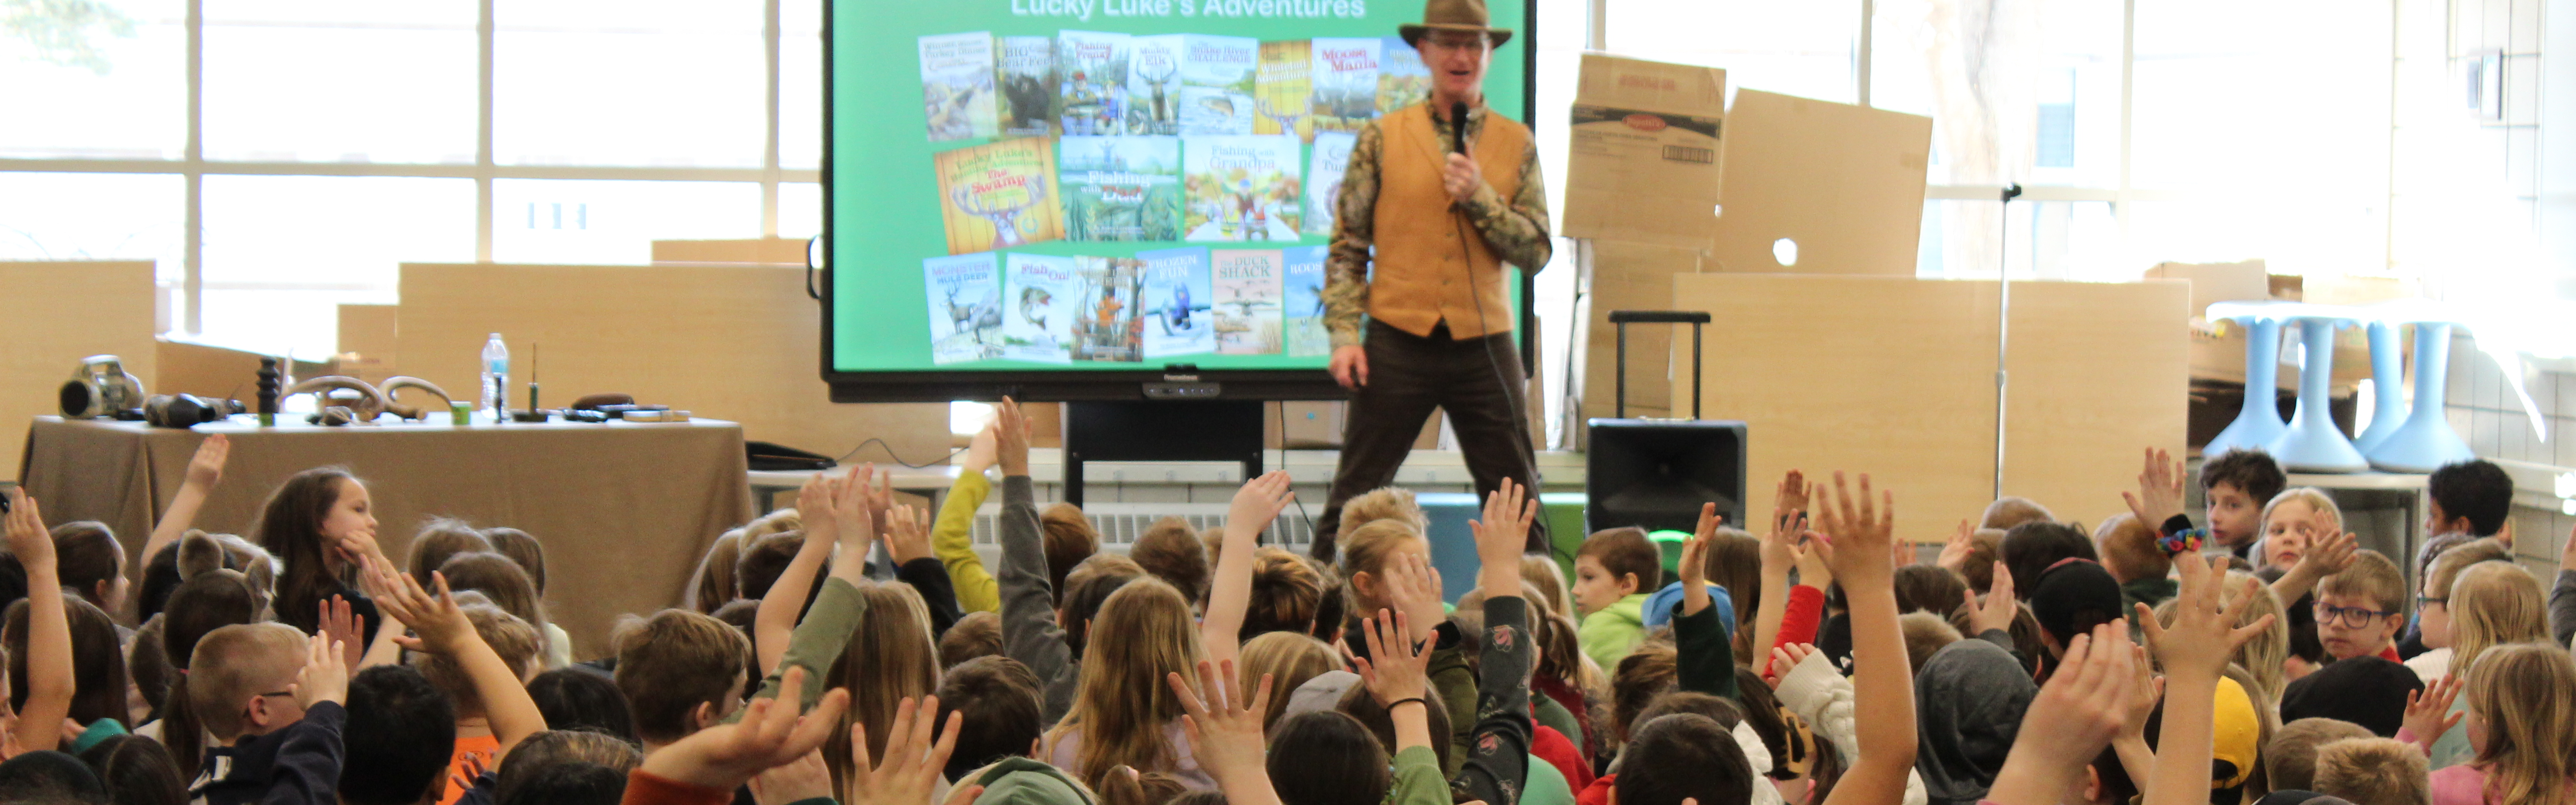
MULTIPOLYGON (((1479 495, 1504 477, 1538 485, 1502 263, 1548 266, 1548 191, 1530 129, 1484 106, 1484 70, 1512 39, 1489 21, 1484 0, 1430 0, 1419 26, 1396 28, 1432 72, 1430 101, 1360 129, 1334 199, 1324 328, 1332 379, 1352 397, 1314 524, 1321 560, 1342 503, 1396 477, 1432 408, 1448 410, 1479 495)), ((1530 550, 1546 544, 1533 524, 1530 550)))

